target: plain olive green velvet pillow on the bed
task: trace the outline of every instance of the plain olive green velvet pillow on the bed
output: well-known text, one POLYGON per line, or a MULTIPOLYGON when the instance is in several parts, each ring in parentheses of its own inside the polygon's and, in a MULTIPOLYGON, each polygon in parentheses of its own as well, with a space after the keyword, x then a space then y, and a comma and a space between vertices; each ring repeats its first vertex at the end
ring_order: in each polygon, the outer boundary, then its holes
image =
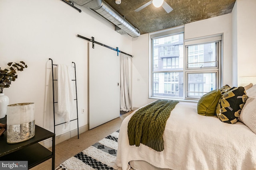
POLYGON ((204 116, 214 116, 220 96, 218 89, 206 93, 197 103, 197 113, 204 116))

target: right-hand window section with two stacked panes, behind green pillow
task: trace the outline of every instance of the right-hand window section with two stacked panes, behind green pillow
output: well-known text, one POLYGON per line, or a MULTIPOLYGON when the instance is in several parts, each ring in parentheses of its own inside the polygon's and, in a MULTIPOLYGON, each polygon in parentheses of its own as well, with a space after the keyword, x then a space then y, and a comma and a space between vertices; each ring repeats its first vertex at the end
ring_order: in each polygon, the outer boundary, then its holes
POLYGON ((186 98, 200 98, 218 88, 219 41, 186 47, 186 98))

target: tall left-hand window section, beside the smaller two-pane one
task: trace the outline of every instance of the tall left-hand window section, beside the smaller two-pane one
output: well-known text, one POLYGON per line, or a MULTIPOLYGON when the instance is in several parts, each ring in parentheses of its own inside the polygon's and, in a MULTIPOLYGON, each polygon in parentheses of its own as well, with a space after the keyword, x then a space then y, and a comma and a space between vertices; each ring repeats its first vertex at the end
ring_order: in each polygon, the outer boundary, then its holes
POLYGON ((182 98, 184 67, 183 33, 155 38, 152 39, 152 42, 153 96, 182 98))

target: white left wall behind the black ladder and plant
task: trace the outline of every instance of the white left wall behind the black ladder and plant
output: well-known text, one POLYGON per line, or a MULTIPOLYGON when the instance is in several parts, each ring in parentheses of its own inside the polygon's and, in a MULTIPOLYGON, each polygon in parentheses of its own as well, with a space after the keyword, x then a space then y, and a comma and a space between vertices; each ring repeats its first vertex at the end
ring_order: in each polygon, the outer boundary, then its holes
MULTIPOLYGON (((28 65, 18 72, 18 78, 4 93, 10 104, 34 102, 36 124, 50 131, 54 126, 49 58, 54 64, 76 63, 78 117, 82 127, 88 124, 88 42, 76 35, 93 36, 95 41, 132 54, 132 37, 120 35, 112 23, 91 10, 77 7, 81 13, 61 0, 0 1, 0 67, 7 68, 7 63, 18 61, 28 65), (82 108, 86 113, 81 113, 82 108)), ((56 135, 72 129, 76 129, 75 122, 67 129, 57 127, 56 135)))

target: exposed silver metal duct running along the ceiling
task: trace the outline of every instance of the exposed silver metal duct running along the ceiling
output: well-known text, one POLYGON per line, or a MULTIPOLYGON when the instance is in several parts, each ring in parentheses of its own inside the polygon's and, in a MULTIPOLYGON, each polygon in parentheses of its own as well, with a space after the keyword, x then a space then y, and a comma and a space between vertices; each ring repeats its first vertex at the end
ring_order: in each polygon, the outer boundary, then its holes
POLYGON ((104 0, 73 0, 76 4, 90 8, 106 20, 110 21, 117 27, 115 31, 120 34, 127 33, 131 37, 140 36, 140 31, 134 27, 131 23, 126 21, 118 12, 116 12, 110 5, 108 5, 104 0))

